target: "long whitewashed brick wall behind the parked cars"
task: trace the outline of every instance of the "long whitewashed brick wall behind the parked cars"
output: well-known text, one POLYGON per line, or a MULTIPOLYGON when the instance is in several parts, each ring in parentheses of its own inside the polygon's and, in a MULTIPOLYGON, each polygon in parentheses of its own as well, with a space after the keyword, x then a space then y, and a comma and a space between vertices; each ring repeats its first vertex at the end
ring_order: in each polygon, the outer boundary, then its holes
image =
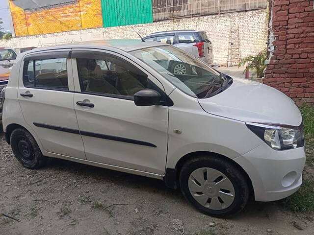
MULTIPOLYGON (((225 65, 227 64, 230 24, 232 22, 239 25, 240 53, 242 58, 249 54, 257 54, 266 47, 267 27, 265 9, 183 18, 161 21, 152 24, 135 24, 132 26, 142 36, 166 30, 205 30, 213 45, 214 62, 225 65)), ((134 39, 138 38, 138 35, 130 26, 93 28, 87 30, 14 38, 9 41, 0 40, 0 47, 47 47, 77 41, 121 38, 134 39)))

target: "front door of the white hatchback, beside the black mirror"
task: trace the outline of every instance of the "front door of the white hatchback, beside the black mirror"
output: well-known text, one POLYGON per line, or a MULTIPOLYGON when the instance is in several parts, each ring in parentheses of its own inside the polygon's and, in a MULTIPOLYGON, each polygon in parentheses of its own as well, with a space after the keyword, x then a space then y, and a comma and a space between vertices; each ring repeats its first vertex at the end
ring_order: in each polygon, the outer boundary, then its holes
POLYGON ((138 107, 133 101, 133 94, 144 88, 163 93, 159 81, 113 52, 73 50, 72 58, 78 82, 74 107, 86 159, 163 174, 168 107, 138 107))

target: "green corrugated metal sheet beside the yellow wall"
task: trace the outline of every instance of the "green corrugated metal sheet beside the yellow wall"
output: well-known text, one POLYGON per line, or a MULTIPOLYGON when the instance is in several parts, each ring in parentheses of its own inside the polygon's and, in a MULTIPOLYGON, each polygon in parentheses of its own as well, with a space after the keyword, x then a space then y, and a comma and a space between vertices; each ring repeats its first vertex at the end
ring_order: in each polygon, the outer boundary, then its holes
POLYGON ((152 0, 102 0, 102 12, 104 27, 153 22, 152 0))

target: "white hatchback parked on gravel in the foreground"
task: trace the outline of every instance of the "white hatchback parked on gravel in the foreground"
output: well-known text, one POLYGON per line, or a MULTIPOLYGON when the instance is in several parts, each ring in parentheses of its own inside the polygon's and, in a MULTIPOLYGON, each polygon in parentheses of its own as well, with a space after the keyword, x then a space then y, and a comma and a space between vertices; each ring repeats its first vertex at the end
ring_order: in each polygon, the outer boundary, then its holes
POLYGON ((54 157, 162 179, 213 216, 241 211, 249 196, 285 198, 302 184, 293 101, 170 45, 33 49, 18 56, 0 100, 6 140, 28 168, 54 157), (189 72, 173 74, 176 61, 189 72))

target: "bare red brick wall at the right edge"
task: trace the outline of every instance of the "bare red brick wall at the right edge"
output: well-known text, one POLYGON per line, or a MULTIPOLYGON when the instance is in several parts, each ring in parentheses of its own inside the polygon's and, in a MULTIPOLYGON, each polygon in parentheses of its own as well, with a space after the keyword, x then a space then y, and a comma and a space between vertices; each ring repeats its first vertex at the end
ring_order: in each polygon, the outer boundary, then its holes
POLYGON ((273 0, 264 83, 297 103, 314 103, 313 0, 273 0))

